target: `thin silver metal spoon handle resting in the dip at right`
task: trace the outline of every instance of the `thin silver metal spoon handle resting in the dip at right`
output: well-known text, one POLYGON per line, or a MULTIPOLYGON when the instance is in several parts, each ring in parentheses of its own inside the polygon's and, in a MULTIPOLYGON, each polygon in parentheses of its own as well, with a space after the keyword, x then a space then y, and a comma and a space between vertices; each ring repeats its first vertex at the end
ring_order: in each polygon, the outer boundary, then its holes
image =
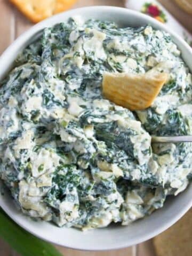
POLYGON ((192 142, 192 135, 186 135, 186 136, 165 136, 165 137, 156 137, 153 136, 151 138, 152 143, 156 142, 192 142))

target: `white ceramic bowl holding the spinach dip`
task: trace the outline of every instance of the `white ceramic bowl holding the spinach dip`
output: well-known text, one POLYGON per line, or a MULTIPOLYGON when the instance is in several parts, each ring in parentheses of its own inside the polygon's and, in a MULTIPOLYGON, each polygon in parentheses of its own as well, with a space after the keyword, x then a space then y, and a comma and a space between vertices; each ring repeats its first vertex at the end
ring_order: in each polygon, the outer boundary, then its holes
MULTIPOLYGON (((111 6, 84 7, 71 10, 44 20, 22 34, 7 48, 0 58, 0 79, 11 68, 18 52, 39 36, 41 30, 55 23, 66 21, 69 17, 81 15, 83 19, 102 19, 116 22, 120 27, 152 25, 171 34, 173 41, 182 52, 182 57, 192 70, 192 51, 183 39, 175 35, 162 23, 139 12, 111 6)), ((129 226, 111 225, 107 228, 82 232, 75 228, 59 228, 52 223, 35 222, 23 215, 14 201, 5 193, 0 195, 0 205, 21 227, 46 241, 81 250, 111 250, 141 243, 156 236, 179 220, 192 206, 192 184, 177 197, 168 198, 164 207, 149 217, 138 220, 129 226)))

